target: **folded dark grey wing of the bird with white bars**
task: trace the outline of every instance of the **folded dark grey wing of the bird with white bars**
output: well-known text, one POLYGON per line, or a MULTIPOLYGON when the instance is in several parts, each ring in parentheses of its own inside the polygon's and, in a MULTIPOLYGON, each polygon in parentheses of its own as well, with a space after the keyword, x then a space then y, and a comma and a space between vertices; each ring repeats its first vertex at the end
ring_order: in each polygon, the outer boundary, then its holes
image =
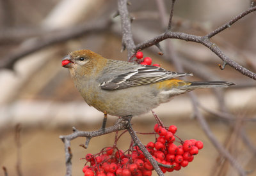
POLYGON ((166 71, 157 66, 137 65, 131 71, 126 73, 115 74, 108 80, 100 82, 100 88, 113 91, 115 89, 126 89, 138 85, 153 84, 163 80, 169 80, 175 77, 192 76, 191 73, 177 73, 174 71, 166 71))

